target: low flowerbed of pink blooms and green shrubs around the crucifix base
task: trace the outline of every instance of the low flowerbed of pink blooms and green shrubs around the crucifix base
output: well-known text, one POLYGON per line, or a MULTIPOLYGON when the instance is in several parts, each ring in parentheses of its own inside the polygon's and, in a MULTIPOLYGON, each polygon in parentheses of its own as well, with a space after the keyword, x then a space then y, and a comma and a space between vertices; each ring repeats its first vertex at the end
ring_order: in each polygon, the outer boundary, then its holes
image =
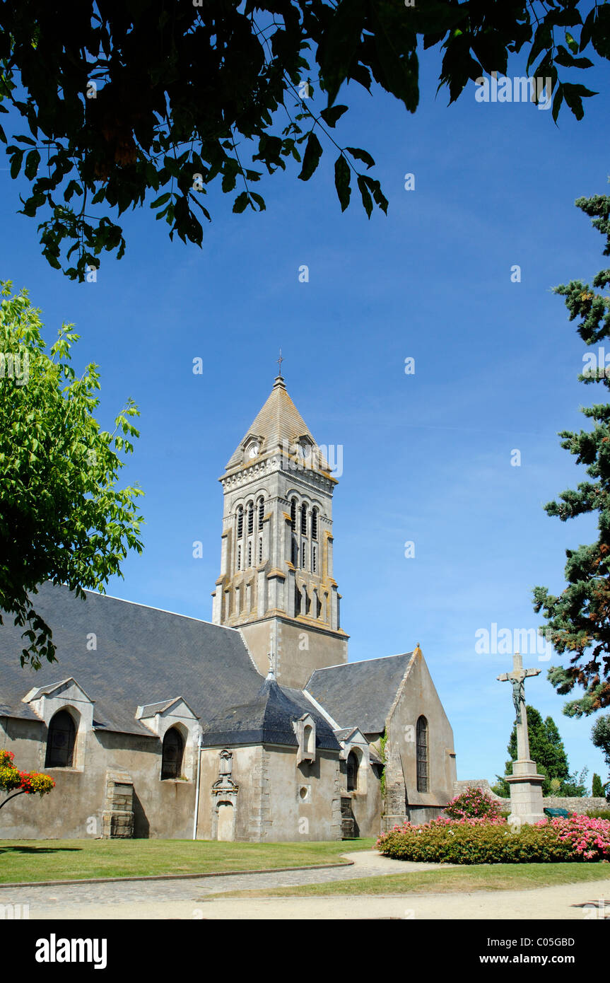
POLYGON ((542 820, 513 831, 502 817, 440 816, 395 826, 377 839, 384 856, 436 863, 561 863, 610 861, 610 822, 589 816, 542 820))

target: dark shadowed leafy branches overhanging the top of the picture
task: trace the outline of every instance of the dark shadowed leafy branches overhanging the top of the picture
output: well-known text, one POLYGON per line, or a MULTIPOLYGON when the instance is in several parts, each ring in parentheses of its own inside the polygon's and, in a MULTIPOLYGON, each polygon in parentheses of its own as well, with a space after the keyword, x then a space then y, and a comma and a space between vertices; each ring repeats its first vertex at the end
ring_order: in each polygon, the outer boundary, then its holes
POLYGON ((237 191, 236 212, 259 211, 262 174, 293 161, 308 181, 323 145, 337 154, 342 210, 354 182, 370 216, 387 208, 374 160, 335 137, 345 84, 376 86, 415 112, 421 49, 442 51, 451 102, 523 49, 522 69, 551 81, 553 117, 565 101, 580 119, 595 93, 570 73, 591 67, 588 54, 608 58, 609 39, 610 5, 590 0, 3 3, 0 100, 28 128, 8 146, 11 176, 30 183, 24 213, 42 212, 44 256, 79 279, 102 251, 123 255, 110 213, 148 192, 170 236, 200 245, 208 187, 237 191))

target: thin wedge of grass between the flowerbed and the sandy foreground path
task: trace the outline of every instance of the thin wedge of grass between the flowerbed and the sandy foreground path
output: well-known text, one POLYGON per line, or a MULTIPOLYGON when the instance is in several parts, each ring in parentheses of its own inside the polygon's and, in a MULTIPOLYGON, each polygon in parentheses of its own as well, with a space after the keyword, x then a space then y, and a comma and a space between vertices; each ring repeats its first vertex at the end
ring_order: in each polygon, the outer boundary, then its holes
MULTIPOLYGON (((332 884, 308 884, 302 888, 267 888, 232 891, 216 897, 295 897, 330 895, 437 895, 471 891, 526 891, 582 881, 610 881, 607 863, 492 864, 362 877, 332 884)), ((206 900, 209 899, 206 896, 206 900)))

